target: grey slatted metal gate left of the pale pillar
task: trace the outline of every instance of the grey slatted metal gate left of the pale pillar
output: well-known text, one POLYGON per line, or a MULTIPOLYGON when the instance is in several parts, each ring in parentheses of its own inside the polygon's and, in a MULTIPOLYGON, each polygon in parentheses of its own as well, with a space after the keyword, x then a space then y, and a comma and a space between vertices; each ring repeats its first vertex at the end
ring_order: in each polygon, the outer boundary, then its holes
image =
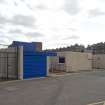
POLYGON ((18 79, 18 48, 0 48, 0 81, 18 79))

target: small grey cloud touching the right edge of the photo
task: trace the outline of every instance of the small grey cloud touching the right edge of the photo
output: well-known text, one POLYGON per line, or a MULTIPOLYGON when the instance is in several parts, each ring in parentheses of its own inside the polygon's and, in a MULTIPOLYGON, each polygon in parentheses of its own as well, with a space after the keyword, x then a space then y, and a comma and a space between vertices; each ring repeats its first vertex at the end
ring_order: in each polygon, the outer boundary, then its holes
POLYGON ((95 8, 95 9, 89 10, 88 15, 91 17, 102 16, 102 15, 105 15, 105 12, 101 11, 99 8, 95 8))

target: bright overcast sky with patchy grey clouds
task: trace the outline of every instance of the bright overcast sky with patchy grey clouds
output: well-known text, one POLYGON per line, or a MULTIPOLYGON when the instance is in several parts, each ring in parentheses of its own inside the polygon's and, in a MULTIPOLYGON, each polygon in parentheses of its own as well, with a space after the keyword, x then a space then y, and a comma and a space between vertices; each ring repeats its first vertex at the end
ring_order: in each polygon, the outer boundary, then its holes
POLYGON ((0 43, 44 48, 105 42, 105 0, 0 0, 0 43))

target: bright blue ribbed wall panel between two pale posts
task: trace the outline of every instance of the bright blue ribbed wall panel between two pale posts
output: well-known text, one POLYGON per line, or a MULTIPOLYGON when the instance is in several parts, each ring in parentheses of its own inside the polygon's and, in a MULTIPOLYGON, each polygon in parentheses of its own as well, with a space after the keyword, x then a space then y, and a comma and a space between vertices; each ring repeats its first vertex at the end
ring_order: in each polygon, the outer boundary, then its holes
POLYGON ((45 77, 47 75, 47 56, 24 53, 24 78, 45 77))

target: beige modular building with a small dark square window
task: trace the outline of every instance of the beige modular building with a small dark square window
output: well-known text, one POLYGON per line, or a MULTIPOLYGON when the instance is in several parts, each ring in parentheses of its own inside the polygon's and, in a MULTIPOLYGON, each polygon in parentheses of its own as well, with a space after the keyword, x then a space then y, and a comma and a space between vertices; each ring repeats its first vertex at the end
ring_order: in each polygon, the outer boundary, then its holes
POLYGON ((57 52, 57 56, 50 57, 50 71, 77 72, 92 70, 92 54, 81 52, 57 52))

